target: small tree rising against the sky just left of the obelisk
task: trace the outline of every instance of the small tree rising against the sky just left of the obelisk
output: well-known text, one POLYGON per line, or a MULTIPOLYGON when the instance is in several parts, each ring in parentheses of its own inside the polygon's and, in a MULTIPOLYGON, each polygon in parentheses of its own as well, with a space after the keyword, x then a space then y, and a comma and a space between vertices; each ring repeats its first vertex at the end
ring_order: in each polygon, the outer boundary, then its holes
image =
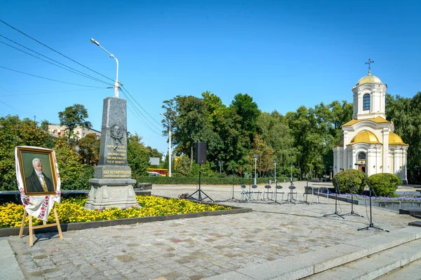
POLYGON ((65 111, 58 112, 60 118, 60 125, 65 125, 69 134, 67 134, 67 142, 70 142, 71 137, 75 137, 74 129, 78 126, 91 128, 91 122, 88 122, 88 111, 85 106, 81 104, 74 104, 65 108, 65 111))

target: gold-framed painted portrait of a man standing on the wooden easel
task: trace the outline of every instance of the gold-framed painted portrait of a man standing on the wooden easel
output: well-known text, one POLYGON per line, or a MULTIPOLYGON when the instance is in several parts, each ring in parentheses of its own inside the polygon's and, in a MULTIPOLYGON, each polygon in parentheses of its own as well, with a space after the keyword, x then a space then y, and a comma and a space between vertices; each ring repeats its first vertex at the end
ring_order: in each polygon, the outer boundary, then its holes
POLYGON ((57 174, 53 150, 18 147, 18 160, 25 195, 55 195, 57 174))

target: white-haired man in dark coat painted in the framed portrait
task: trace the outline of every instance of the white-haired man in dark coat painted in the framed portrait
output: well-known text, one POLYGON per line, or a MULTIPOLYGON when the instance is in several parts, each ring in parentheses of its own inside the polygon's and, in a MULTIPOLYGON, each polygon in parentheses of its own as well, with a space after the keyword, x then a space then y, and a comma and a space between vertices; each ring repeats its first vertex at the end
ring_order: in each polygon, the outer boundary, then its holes
POLYGON ((53 181, 43 172, 42 160, 32 160, 32 173, 25 178, 27 193, 54 192, 53 181))

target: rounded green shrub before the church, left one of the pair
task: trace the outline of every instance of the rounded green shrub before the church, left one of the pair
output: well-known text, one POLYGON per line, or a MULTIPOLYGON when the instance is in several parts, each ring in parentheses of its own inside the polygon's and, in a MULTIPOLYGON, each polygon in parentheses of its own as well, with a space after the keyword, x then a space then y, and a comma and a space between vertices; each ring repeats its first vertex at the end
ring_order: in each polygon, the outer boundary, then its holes
POLYGON ((333 177, 333 186, 339 188, 339 193, 362 193, 366 185, 366 174, 356 169, 343 170, 333 177))

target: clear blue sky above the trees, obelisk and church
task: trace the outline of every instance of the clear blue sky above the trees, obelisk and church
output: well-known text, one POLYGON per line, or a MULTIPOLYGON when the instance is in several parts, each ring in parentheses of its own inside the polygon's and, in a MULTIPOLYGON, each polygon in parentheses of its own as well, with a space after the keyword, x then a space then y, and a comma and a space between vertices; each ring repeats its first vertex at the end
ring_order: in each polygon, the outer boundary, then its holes
MULTIPOLYGON (((0 20, 107 78, 2 22, 0 41, 25 50, 8 41, 13 40, 113 83, 115 61, 90 42, 95 38, 119 59, 119 80, 142 107, 128 103, 128 131, 166 152, 159 113, 162 102, 178 94, 200 97, 209 90, 229 106, 235 94, 248 93, 260 110, 283 114, 302 105, 352 102, 351 89, 367 74, 364 63, 371 58, 372 73, 387 83, 387 92, 413 97, 421 90, 420 10, 415 0, 0 0, 0 20)), ((0 66, 92 87, 0 68, 0 116, 36 116, 56 124, 59 111, 83 104, 100 130, 102 100, 114 95, 109 85, 4 43, 0 66)))

